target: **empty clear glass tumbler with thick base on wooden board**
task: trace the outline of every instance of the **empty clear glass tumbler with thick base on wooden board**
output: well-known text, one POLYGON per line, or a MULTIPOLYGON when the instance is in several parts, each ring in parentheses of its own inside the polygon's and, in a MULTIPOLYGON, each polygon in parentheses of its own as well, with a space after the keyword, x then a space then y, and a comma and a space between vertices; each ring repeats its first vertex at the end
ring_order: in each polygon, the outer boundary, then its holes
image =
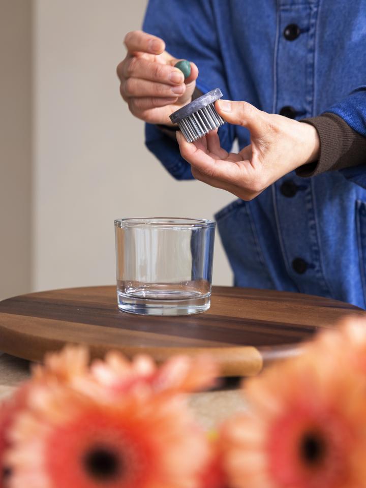
POLYGON ((209 309, 215 225, 204 219, 115 220, 119 309, 144 315, 209 309))

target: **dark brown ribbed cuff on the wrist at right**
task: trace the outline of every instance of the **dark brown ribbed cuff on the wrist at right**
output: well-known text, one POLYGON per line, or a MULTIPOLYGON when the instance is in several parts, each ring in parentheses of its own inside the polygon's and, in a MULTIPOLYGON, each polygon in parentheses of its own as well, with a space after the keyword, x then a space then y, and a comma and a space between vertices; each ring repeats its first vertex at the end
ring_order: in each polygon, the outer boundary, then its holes
POLYGON ((311 124, 318 131, 320 157, 314 163, 297 168, 298 176, 315 176, 325 171, 366 164, 366 137, 351 129, 343 118, 326 112, 300 122, 311 124))

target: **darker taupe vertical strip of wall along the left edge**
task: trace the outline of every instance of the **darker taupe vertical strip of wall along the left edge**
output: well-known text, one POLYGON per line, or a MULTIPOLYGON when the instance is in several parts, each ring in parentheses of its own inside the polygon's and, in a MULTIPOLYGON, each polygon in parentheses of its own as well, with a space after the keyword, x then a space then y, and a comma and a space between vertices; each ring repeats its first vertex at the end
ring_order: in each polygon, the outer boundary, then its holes
POLYGON ((0 299, 31 289, 31 3, 0 0, 0 299))

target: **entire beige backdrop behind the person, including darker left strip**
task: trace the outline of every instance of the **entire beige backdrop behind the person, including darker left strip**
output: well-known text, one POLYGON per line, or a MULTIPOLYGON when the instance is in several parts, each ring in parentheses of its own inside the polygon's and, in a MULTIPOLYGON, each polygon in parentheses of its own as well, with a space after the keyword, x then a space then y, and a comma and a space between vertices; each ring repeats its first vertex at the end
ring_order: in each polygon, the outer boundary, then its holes
MULTIPOLYGON (((175 181, 115 68, 145 0, 0 0, 0 298, 115 281, 113 220, 211 218, 234 197, 175 181)), ((216 241, 214 283, 232 275, 216 241)))

